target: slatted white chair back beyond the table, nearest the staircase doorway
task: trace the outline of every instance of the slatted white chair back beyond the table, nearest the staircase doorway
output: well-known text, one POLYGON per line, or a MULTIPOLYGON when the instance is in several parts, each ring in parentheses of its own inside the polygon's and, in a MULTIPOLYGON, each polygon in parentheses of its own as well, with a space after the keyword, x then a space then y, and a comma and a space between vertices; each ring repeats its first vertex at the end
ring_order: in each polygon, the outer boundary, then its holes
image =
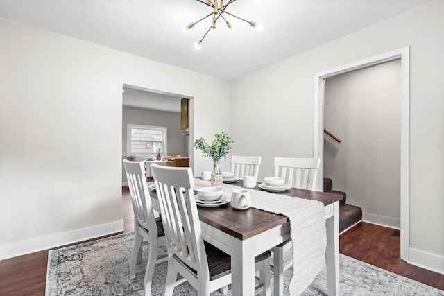
POLYGON ((284 178, 284 182, 294 188, 316 189, 321 159, 275 157, 275 177, 284 178))

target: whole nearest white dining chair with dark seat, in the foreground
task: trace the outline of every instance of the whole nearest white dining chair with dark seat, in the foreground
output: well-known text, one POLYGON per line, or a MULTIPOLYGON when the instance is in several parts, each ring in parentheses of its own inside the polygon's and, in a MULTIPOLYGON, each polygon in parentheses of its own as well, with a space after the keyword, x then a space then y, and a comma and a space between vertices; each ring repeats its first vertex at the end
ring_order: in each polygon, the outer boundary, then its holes
MULTIPOLYGON (((191 168, 151 164, 151 169, 167 236, 169 259, 164 295, 173 295, 178 274, 196 288, 198 295, 210 295, 230 284, 230 255, 203 241, 191 168)), ((256 257, 256 267, 260 268, 256 291, 261 295, 271 294, 270 256, 267 251, 256 257)))

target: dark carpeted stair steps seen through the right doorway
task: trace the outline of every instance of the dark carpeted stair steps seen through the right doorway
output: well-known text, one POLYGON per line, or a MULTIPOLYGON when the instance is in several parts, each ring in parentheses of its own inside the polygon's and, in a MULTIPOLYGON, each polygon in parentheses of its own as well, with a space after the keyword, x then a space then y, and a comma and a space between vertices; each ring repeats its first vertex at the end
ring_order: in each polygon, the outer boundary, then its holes
POLYGON ((339 200, 339 233, 362 220, 362 209, 346 204, 347 195, 345 192, 332 190, 332 179, 324 178, 324 192, 338 193, 343 196, 343 200, 339 200))

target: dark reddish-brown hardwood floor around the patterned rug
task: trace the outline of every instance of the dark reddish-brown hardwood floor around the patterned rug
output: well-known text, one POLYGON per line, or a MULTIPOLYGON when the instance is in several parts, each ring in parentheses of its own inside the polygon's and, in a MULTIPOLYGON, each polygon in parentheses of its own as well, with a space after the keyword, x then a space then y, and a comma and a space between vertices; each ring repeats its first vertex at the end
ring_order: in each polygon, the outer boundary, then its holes
MULTIPOLYGON (((123 233, 133 232, 134 218, 128 187, 122 187, 123 233)), ((339 237, 341 254, 444 290, 444 275, 400 260, 400 237, 395 229, 359 223, 339 237)), ((0 261, 0 295, 43 296, 48 250, 0 261)))

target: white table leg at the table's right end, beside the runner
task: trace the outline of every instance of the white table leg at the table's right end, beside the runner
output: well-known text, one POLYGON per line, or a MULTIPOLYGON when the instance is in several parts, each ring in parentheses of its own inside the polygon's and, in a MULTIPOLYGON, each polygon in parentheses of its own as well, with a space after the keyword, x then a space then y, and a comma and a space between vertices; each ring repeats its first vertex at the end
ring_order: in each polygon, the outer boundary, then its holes
POLYGON ((327 228, 327 290, 329 296, 339 295, 339 202, 333 204, 334 214, 325 220, 327 228))

